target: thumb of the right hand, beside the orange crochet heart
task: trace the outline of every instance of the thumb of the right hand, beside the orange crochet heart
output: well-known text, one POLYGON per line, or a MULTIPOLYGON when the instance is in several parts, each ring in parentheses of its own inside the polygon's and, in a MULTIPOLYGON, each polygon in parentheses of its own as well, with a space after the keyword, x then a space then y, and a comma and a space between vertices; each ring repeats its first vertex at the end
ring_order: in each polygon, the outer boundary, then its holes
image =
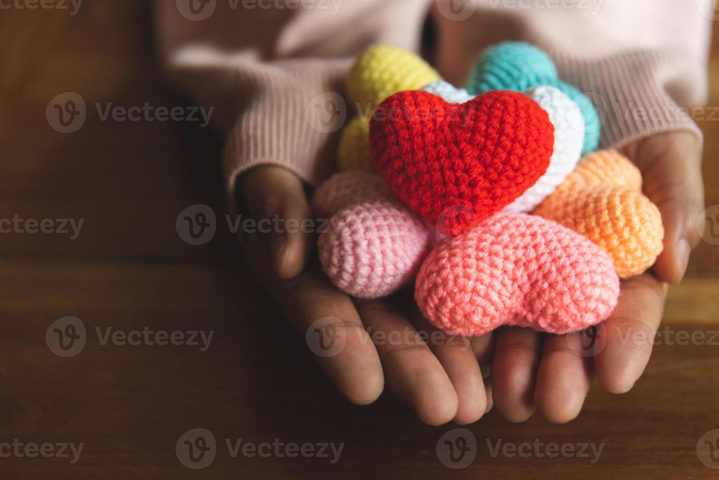
POLYGON ((656 259, 659 280, 682 280, 690 251, 699 241, 697 216, 704 209, 700 142, 677 132, 644 140, 629 152, 644 176, 644 192, 659 208, 664 223, 664 250, 656 259))

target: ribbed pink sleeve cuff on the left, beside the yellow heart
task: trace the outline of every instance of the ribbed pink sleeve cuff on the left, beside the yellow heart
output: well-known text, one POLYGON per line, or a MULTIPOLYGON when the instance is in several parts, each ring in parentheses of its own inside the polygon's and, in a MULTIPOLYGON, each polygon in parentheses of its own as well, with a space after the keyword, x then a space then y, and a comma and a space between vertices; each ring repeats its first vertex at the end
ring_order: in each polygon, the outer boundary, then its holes
MULTIPOLYGON (((301 71, 267 70, 229 131, 224 172, 232 195, 237 176, 256 165, 280 165, 316 185, 336 169, 336 131, 350 106, 342 95, 351 60, 304 62, 301 71)), ((242 81, 241 83, 249 83, 242 81)))

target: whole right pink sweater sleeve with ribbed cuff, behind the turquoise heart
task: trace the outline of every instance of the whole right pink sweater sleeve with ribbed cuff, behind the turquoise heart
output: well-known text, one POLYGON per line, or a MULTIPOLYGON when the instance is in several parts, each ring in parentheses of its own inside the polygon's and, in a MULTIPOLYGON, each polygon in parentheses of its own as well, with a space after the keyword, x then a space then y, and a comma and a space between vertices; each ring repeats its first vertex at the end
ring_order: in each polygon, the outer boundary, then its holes
MULTIPOLYGON (((713 0, 438 0, 437 68, 462 83, 487 46, 525 40, 589 96, 601 147, 664 131, 701 136, 690 110, 707 95, 713 0)), ((717 15, 719 18, 719 15, 717 15)))

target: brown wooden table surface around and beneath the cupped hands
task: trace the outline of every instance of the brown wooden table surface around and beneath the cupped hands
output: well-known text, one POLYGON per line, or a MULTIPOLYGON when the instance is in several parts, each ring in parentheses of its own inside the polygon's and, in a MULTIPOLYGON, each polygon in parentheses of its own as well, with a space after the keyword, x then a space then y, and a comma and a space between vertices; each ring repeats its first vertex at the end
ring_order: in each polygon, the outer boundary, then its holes
MULTIPOLYGON (((0 235, 0 479, 717 478, 709 466, 719 468, 719 445, 708 451, 705 441, 719 428, 719 246, 695 251, 665 316, 664 326, 705 341, 661 342, 633 391, 595 387, 567 425, 539 415, 516 425, 490 412, 452 431, 423 425, 386 394, 349 405, 285 327, 232 235, 219 229, 191 246, 175 231, 187 206, 226 211, 219 139, 186 122, 103 122, 94 111, 96 102, 190 104, 157 73, 149 2, 88 1, 75 16, 2 10, 0 40, 0 218, 84 218, 76 239, 0 235), (45 107, 68 91, 88 103, 88 118, 61 134, 45 107), (80 354, 62 358, 45 334, 66 316, 88 334, 80 354), (103 344, 96 335, 145 327, 215 333, 207 351, 103 344), (188 438, 201 446, 196 428, 216 440, 214 462, 201 470, 183 466, 175 448, 188 438), (476 447, 455 460, 471 464, 449 469, 459 463, 440 458, 438 444, 443 451, 459 437, 476 447), (342 453, 336 463, 331 453, 233 456, 226 440, 239 439, 342 444, 342 453), (83 450, 76 463, 72 453, 4 458, 17 442, 83 450), (574 454, 546 455, 563 445, 574 454), (592 446, 602 448, 598 461, 592 446), (713 456, 700 458, 697 446, 713 456)), ((707 205, 717 205, 719 124, 702 128, 707 205)))

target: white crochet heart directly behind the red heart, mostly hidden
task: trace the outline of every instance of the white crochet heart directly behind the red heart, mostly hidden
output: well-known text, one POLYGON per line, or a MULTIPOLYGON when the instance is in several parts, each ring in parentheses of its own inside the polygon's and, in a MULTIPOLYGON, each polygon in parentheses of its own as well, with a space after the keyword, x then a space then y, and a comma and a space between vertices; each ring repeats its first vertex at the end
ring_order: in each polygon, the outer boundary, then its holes
MULTIPOLYGON (((464 103, 474 98, 464 88, 456 88, 444 80, 431 83, 422 90, 439 95, 449 103, 464 103)), ((523 93, 549 114, 549 120, 554 124, 554 153, 546 173, 537 183, 504 208, 503 211, 509 213, 530 212, 554 192, 580 161, 585 135, 580 106, 559 88, 539 86, 523 93)))

